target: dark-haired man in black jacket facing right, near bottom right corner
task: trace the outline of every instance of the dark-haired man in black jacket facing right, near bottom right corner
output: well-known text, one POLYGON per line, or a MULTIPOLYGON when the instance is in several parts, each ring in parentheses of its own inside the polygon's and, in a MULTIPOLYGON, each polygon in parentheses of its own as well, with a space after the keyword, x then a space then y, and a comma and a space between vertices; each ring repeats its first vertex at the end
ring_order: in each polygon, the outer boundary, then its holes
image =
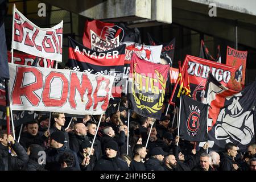
POLYGON ((221 171, 236 171, 238 169, 234 158, 237 156, 237 146, 233 143, 227 143, 225 146, 225 154, 223 154, 220 163, 221 171))

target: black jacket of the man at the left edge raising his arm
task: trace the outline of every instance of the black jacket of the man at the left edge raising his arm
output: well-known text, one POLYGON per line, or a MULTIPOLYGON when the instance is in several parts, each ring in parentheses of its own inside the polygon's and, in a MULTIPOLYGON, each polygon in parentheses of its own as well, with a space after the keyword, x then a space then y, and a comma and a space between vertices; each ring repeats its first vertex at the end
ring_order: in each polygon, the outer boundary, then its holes
MULTIPOLYGON (((11 156, 10 170, 20 170, 28 162, 28 155, 24 148, 15 141, 11 148, 16 152, 17 156, 11 156)), ((0 171, 8 171, 8 147, 0 143, 0 171)))

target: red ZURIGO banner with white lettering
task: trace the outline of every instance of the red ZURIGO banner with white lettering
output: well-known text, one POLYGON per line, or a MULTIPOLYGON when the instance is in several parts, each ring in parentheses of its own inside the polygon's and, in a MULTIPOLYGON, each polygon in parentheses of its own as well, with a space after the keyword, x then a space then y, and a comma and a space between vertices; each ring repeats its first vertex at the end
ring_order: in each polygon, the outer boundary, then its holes
MULTIPOLYGON (((191 96, 193 100, 197 101, 201 101, 203 97, 202 91, 209 73, 212 73, 221 84, 226 86, 231 81, 234 71, 234 67, 190 55, 185 57, 182 67, 183 75, 185 72, 188 74, 191 96)), ((186 77, 184 77, 185 79, 186 77)))

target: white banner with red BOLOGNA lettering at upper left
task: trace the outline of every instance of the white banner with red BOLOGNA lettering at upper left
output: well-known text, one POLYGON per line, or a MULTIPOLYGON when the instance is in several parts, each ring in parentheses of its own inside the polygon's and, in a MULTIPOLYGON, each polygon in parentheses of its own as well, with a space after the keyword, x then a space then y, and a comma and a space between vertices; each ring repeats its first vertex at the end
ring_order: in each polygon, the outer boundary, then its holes
POLYGON ((52 28, 40 28, 17 9, 14 10, 13 48, 30 55, 61 62, 63 21, 52 28))

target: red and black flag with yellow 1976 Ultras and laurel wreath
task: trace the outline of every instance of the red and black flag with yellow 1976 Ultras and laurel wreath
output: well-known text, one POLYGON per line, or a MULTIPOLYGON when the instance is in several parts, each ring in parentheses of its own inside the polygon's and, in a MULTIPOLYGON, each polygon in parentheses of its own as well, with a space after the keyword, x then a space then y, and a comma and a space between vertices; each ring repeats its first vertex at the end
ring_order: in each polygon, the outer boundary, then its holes
POLYGON ((129 104, 139 115, 160 119, 169 65, 148 63, 137 55, 131 59, 129 104))

